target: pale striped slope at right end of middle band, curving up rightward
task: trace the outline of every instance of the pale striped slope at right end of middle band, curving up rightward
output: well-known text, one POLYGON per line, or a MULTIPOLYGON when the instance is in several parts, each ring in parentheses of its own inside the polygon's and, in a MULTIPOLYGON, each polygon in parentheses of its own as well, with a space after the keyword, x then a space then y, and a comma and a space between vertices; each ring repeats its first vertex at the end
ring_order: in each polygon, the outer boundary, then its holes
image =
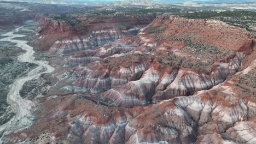
POLYGON ((237 53, 229 62, 221 62, 210 74, 198 73, 193 70, 179 70, 176 79, 163 90, 158 91, 153 101, 170 99, 181 95, 191 95, 194 92, 209 89, 223 82, 228 76, 239 69, 242 62, 241 53, 237 53))

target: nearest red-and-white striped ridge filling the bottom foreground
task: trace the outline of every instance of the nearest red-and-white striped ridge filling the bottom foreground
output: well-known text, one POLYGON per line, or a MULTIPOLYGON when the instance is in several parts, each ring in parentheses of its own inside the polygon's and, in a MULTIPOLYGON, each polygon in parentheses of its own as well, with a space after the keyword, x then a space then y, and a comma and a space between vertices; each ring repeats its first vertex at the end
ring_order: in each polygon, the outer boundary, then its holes
MULTIPOLYGON (((253 61, 211 90, 146 107, 107 107, 82 95, 43 98, 45 112, 36 123, 4 140, 6 143, 255 143, 255 98, 234 84, 242 77, 252 80, 250 73, 255 69, 253 61)), ((249 88, 247 83, 245 86, 249 88)))

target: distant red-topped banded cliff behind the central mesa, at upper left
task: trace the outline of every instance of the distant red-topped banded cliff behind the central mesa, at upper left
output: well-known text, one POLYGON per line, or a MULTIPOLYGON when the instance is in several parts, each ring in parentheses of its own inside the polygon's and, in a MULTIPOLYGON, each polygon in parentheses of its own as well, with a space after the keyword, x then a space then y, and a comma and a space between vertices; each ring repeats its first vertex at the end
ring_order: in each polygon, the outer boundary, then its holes
POLYGON ((100 17, 58 17, 40 20, 40 37, 37 45, 40 50, 50 53, 69 54, 96 49, 127 35, 136 35, 155 15, 140 16, 100 16, 100 17), (68 19, 68 20, 67 20, 68 19))

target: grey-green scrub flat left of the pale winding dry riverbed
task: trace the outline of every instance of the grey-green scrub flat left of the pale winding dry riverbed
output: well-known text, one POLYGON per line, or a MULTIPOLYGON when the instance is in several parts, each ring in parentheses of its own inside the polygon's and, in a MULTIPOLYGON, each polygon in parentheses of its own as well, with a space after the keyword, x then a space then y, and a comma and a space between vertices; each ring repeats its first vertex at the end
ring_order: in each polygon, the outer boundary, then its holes
MULTIPOLYGON (((34 25, 28 26, 27 29, 23 29, 23 33, 27 32, 34 34, 33 31, 29 31, 30 29, 28 29, 34 27, 34 25)), ((1 37, 4 38, 4 36, 1 37)), ((11 112, 6 101, 7 94, 10 89, 9 86, 15 81, 15 79, 25 76, 29 71, 36 68, 37 65, 29 62, 18 61, 18 56, 25 51, 20 49, 20 47, 18 47, 15 43, 0 40, 0 45, 0 124, 2 125, 13 117, 13 113, 11 112)))

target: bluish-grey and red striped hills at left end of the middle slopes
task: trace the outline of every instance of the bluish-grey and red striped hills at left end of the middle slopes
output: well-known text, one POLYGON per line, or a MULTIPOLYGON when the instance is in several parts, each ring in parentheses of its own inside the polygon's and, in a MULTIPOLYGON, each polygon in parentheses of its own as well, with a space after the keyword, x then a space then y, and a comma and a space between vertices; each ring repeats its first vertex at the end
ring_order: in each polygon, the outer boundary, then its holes
MULTIPOLYGON (((119 59, 119 62, 92 62, 79 65, 72 70, 72 75, 78 77, 74 82, 74 92, 100 93, 112 87, 123 85, 129 81, 139 80, 149 66, 143 58, 119 59), (115 65, 119 63, 119 65, 115 65)), ((110 59, 117 60, 117 59, 110 59)), ((71 77, 71 80, 73 78, 71 77)))

